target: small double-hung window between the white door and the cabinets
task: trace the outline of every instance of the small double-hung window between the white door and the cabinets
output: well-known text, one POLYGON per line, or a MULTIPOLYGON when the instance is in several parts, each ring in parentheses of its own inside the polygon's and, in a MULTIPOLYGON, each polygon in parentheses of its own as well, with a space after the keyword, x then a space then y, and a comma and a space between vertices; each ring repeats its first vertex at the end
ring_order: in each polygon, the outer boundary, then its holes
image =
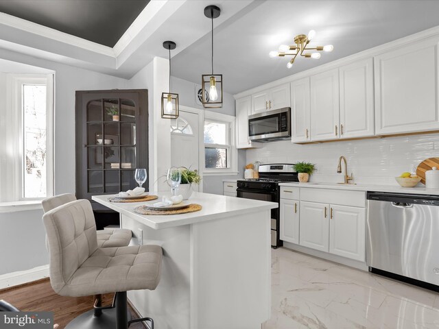
POLYGON ((204 175, 237 172, 235 117, 206 111, 204 114, 204 175))

